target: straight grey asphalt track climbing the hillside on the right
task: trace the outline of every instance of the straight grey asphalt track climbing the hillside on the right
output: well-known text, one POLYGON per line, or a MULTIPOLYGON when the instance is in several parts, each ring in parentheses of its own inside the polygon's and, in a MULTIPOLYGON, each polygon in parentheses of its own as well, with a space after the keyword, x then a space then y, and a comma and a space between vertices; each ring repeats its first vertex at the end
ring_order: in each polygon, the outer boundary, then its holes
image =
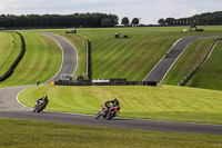
POLYGON ((162 60, 148 73, 143 81, 157 81, 161 83, 169 70, 172 68, 174 62, 178 60, 180 55, 185 50, 185 48, 195 39, 209 38, 212 36, 196 36, 186 37, 179 40, 162 58, 162 60))

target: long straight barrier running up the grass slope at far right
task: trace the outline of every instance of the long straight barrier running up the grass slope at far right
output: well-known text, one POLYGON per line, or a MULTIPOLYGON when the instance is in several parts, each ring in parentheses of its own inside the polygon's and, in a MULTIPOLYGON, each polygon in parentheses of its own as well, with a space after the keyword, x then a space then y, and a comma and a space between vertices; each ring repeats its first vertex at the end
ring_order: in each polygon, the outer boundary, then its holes
POLYGON ((214 46, 216 45, 219 40, 222 40, 222 38, 213 40, 213 43, 209 48, 204 58, 183 78, 183 80, 180 81, 180 83, 178 83, 178 86, 184 86, 191 79, 191 77, 203 66, 203 63, 208 60, 210 53, 212 52, 212 50, 214 49, 214 46))

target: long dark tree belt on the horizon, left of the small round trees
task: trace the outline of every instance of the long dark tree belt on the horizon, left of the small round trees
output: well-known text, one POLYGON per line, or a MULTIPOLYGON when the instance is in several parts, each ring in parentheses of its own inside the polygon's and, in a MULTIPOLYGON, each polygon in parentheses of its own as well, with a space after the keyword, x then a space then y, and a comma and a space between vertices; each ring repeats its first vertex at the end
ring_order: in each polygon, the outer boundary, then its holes
POLYGON ((119 18, 107 13, 74 14, 1 14, 0 28, 48 28, 48 27, 114 27, 119 18))

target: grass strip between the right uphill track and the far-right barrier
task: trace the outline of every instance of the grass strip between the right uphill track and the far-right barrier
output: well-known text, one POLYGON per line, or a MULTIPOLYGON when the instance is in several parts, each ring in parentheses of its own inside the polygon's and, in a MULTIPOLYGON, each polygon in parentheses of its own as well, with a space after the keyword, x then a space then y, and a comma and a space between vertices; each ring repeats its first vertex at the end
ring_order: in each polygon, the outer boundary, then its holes
MULTIPOLYGON (((220 37, 194 40, 172 67, 162 83, 178 85, 203 59, 210 46, 213 43, 213 40, 218 38, 220 37)), ((221 47, 218 47, 218 49, 220 48, 221 47)), ((212 55, 212 57, 214 56, 212 55)), ((220 66, 219 63, 216 65, 220 66)), ((202 81, 204 81, 204 79, 202 79, 202 81)), ((205 86, 208 86, 208 83, 205 83, 205 86)), ((195 87, 199 86, 196 85, 195 87)))

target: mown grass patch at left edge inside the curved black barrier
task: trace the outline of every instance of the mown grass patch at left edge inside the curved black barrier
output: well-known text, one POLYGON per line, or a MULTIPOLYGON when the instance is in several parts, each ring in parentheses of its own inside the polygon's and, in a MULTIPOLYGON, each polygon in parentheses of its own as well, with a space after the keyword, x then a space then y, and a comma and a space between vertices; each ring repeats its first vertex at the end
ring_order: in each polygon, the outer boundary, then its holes
POLYGON ((3 76, 21 51, 21 39, 17 33, 0 32, 0 77, 3 76))

